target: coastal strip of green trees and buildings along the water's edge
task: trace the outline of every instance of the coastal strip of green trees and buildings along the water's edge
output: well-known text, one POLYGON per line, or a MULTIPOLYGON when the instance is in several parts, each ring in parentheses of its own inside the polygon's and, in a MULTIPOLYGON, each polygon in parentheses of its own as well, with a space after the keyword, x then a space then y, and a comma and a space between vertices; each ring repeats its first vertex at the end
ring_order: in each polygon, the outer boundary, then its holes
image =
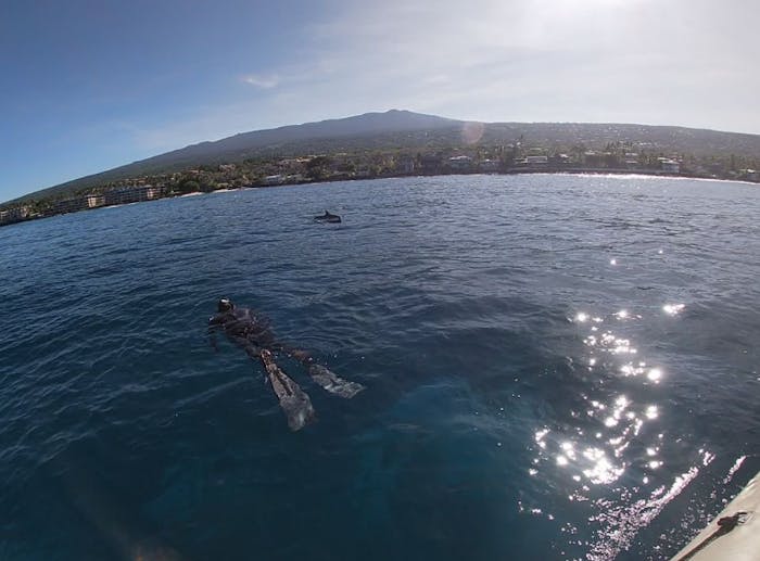
POLYGON ((546 149, 525 145, 522 139, 491 146, 474 144, 427 150, 356 150, 287 157, 270 155, 106 181, 53 196, 9 203, 0 206, 0 225, 111 204, 243 187, 411 175, 528 171, 626 171, 758 181, 758 157, 662 152, 646 143, 609 142, 595 149, 577 142, 546 149))

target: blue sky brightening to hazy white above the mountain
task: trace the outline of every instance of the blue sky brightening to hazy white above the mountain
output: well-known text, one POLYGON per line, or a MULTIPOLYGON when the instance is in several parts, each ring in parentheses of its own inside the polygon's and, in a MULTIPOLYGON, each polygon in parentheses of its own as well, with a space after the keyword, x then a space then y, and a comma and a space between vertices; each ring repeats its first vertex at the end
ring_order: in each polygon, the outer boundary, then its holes
POLYGON ((760 133, 758 0, 0 0, 0 201, 410 110, 760 133))

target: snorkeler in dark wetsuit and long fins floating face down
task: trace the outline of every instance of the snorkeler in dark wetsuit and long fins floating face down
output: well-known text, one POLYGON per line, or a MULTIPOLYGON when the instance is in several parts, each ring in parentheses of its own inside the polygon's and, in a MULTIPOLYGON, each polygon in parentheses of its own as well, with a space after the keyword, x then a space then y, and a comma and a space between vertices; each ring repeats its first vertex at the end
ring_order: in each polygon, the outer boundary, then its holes
POLYGON ((214 349, 217 349, 217 330, 223 330, 227 339, 242 347, 249 357, 262 361, 292 431, 315 420, 314 408, 308 395, 277 366, 275 353, 284 353, 299 360, 306 367, 312 380, 331 394, 350 399, 364 390, 364 385, 343 380, 317 365, 306 350, 278 342, 269 330, 268 319, 251 308, 236 306, 229 298, 221 298, 217 304, 217 314, 208 319, 208 335, 214 349))

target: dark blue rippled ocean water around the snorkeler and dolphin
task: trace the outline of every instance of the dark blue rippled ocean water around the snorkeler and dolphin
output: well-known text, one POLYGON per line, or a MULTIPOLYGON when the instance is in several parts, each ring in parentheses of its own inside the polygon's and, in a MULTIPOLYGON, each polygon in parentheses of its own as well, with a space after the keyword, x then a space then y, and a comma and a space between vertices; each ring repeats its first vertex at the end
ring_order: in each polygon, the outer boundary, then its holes
POLYGON ((760 469, 760 189, 445 177, 0 229, 0 559, 662 559, 760 469), (342 225, 317 225, 325 208, 342 225), (291 433, 228 295, 367 385, 291 433))

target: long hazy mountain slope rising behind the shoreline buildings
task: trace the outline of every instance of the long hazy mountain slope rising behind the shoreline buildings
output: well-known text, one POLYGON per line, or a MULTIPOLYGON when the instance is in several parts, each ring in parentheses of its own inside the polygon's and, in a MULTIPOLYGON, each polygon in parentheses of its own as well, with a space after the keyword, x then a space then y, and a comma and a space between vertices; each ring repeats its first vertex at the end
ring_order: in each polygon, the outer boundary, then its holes
MULTIPOLYGON (((465 144, 465 122, 410 111, 391 110, 353 117, 242 132, 201 142, 107 171, 61 183, 13 202, 63 196, 109 181, 178 171, 204 164, 240 162, 251 157, 293 156, 357 150, 456 148, 465 144)), ((686 127, 584 124, 484 123, 480 142, 507 144, 521 139, 525 146, 568 150, 573 145, 604 149, 610 142, 644 144, 663 153, 696 156, 730 155, 760 158, 760 136, 686 127)))

